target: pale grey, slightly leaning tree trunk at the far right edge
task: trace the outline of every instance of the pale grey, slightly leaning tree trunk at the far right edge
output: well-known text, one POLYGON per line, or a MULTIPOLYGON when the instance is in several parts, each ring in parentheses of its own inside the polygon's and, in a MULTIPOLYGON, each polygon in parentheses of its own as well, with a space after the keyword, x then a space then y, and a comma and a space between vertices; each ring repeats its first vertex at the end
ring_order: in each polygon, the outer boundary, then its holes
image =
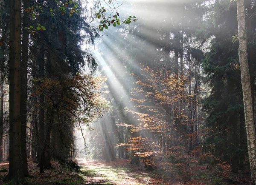
POLYGON ((245 27, 244 0, 237 0, 237 21, 239 36, 239 62, 244 100, 245 128, 252 181, 256 183, 255 126, 253 122, 253 101, 250 86, 250 71, 247 60, 247 39, 245 27))

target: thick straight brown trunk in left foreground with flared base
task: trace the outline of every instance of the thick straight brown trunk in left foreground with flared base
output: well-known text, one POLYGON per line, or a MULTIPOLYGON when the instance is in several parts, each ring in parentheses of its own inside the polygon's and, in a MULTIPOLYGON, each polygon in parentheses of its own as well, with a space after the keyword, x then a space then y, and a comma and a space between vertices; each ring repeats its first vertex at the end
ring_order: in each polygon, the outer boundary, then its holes
POLYGON ((10 163, 7 179, 13 184, 24 181, 21 154, 20 60, 21 0, 11 0, 9 52, 9 132, 10 163))

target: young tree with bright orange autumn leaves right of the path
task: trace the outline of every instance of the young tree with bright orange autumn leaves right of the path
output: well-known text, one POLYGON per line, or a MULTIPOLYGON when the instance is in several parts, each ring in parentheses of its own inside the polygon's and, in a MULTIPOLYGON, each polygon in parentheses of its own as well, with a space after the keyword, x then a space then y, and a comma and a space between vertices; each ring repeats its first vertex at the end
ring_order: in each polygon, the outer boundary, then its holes
MULTIPOLYGON (((128 146, 150 168, 172 173, 176 168, 183 170, 189 162, 196 162, 200 153, 198 140, 203 133, 191 130, 198 121, 191 114, 198 111, 202 88, 196 86, 195 91, 189 92, 187 89, 193 82, 188 76, 177 77, 164 68, 154 70, 143 66, 141 70, 143 73, 136 76, 136 87, 132 89, 131 101, 136 105, 128 110, 137 122, 119 123, 137 133, 137 137, 119 146, 128 146)), ((185 173, 182 170, 180 173, 185 173)))

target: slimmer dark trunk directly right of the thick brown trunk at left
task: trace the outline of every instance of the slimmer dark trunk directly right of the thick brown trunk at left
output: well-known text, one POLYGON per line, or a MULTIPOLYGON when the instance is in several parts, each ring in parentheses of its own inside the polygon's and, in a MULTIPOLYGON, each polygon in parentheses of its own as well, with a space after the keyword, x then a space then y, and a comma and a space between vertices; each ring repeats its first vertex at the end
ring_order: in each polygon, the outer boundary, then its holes
MULTIPOLYGON (((23 9, 29 8, 29 0, 24 0, 23 9)), ((26 11, 23 11, 23 27, 29 26, 29 17, 26 11)), ((21 92, 20 92, 20 115, 21 115, 21 157, 23 160, 24 176, 29 176, 27 154, 26 154, 26 126, 27 126, 27 63, 29 52, 29 32, 23 29, 22 32, 22 53, 21 53, 21 92)))

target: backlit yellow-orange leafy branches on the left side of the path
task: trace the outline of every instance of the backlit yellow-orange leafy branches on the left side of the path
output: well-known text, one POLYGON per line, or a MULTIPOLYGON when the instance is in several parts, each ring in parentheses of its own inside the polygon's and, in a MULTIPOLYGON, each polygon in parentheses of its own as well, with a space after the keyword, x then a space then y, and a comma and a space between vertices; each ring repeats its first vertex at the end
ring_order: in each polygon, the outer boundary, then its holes
POLYGON ((104 84, 104 78, 94 78, 90 75, 76 75, 61 80, 50 78, 34 79, 36 89, 34 97, 44 94, 46 99, 40 102, 45 108, 56 107, 59 114, 65 114, 73 122, 90 122, 101 116, 104 108, 108 106, 99 93, 104 84))

